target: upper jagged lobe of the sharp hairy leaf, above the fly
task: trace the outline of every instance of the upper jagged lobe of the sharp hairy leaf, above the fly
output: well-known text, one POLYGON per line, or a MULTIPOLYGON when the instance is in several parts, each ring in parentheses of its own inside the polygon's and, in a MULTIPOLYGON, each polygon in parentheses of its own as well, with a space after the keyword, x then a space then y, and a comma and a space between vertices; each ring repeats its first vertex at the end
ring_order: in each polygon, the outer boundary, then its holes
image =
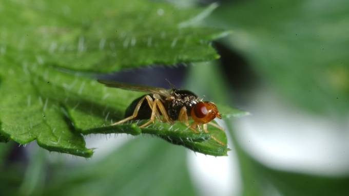
POLYGON ((179 26, 204 9, 145 0, 7 1, 3 7, 0 42, 5 51, 16 48, 38 63, 80 71, 217 59, 209 41, 226 34, 179 26))

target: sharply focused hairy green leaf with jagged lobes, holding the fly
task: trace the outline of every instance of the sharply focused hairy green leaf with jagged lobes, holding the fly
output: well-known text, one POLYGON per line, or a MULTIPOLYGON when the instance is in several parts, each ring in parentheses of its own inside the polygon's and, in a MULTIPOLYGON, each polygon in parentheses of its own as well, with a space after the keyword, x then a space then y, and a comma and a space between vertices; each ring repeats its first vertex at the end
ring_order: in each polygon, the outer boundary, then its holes
MULTIPOLYGON (((109 126, 141 94, 106 88, 86 74, 218 58, 209 41, 226 32, 198 26, 215 6, 103 0, 6 1, 0 8, 2 138, 90 157, 83 134, 144 133, 225 155, 226 146, 211 141, 216 133, 177 132, 186 128, 180 123, 109 126)), ((226 140, 224 133, 216 137, 226 140)))

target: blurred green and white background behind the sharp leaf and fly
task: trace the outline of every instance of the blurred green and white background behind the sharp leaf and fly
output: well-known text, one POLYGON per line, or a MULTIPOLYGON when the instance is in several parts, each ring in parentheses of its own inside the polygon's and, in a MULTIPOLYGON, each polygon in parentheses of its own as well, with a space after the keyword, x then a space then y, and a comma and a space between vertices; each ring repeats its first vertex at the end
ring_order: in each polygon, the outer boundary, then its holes
POLYGON ((204 23, 233 31, 221 58, 173 77, 251 113, 221 122, 228 157, 146 136, 87 138, 88 160, 0 143, 0 195, 349 195, 349 2, 221 1, 204 23))

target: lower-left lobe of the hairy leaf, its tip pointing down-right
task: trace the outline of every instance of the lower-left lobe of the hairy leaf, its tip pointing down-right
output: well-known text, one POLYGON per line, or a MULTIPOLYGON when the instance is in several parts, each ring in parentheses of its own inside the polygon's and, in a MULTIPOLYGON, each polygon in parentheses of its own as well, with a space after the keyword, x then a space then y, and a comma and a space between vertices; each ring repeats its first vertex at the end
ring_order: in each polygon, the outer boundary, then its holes
POLYGON ((38 94, 29 76, 16 66, 0 67, 0 133, 20 144, 36 140, 50 151, 90 157, 92 150, 79 133, 71 131, 60 105, 38 94))

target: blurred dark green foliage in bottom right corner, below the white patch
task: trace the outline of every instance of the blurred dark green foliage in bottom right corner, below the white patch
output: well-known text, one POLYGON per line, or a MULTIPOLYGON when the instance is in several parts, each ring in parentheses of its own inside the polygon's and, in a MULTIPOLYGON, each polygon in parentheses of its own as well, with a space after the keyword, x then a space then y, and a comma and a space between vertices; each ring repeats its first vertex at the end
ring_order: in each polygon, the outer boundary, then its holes
POLYGON ((268 196, 276 192, 285 196, 345 196, 348 194, 348 176, 312 175, 270 168, 259 163, 240 146, 236 136, 238 130, 233 128, 234 124, 228 123, 228 125, 240 165, 242 196, 268 196))

